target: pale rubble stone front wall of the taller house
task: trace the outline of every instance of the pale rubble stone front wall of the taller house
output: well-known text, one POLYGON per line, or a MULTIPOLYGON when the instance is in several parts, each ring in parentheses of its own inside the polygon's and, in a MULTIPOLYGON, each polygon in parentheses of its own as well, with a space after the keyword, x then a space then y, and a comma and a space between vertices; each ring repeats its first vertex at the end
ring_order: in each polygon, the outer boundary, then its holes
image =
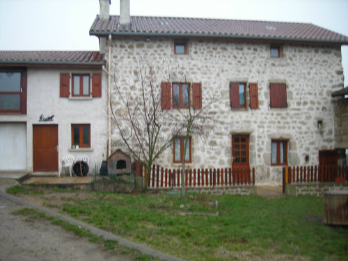
MULTIPOLYGON (((343 86, 340 47, 284 44, 281 58, 270 58, 269 43, 190 39, 187 55, 175 55, 173 47, 170 38, 152 37, 150 42, 145 38, 115 38, 112 72, 125 94, 135 93, 139 83, 134 75, 138 73, 139 57, 144 56, 163 69, 157 77, 158 86, 161 81, 200 82, 203 107, 212 95, 219 98, 209 109, 217 121, 207 123, 206 136, 192 137, 192 163, 187 164, 191 168, 230 167, 232 136, 246 134, 256 184, 276 185, 281 184, 282 170, 271 166, 272 139, 288 141, 290 166, 317 165, 318 150, 335 148, 331 93, 343 86), (173 71, 168 79, 170 70, 173 71), (231 109, 231 81, 247 86, 258 83, 259 108, 231 109), (270 108, 270 83, 286 84, 287 108, 270 108), (318 120, 323 122, 322 134, 317 128, 318 120)), ((247 105, 248 96, 246 88, 247 105)), ((114 102, 120 104, 117 99, 114 102)), ((164 128, 163 136, 169 132, 169 127, 164 128)), ((112 145, 113 150, 122 147, 116 129, 112 145)), ((173 148, 166 150, 155 164, 164 168, 180 166, 173 163, 173 148)))

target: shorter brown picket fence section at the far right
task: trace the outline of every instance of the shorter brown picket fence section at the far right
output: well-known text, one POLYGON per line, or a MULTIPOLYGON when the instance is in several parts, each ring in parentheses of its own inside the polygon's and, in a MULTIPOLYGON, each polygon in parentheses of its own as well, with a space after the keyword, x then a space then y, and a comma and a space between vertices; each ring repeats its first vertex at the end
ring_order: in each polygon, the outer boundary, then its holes
POLYGON ((283 168, 283 190, 285 184, 335 182, 337 179, 340 179, 341 182, 348 180, 346 165, 286 166, 283 168))

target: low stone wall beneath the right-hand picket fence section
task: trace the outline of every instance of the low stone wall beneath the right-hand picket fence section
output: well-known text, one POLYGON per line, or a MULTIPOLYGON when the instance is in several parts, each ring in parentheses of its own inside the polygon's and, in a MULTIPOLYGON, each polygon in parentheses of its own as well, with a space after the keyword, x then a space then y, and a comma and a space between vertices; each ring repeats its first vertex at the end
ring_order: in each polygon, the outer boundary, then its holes
POLYGON ((287 196, 322 196, 323 191, 348 190, 348 183, 286 184, 287 196))

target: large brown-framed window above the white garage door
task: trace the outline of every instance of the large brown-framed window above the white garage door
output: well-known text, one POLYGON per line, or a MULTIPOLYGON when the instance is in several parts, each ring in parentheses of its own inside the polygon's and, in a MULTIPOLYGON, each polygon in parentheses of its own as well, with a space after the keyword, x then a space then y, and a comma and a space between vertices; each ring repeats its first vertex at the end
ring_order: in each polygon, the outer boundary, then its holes
POLYGON ((26 114, 26 72, 0 72, 0 112, 26 114))

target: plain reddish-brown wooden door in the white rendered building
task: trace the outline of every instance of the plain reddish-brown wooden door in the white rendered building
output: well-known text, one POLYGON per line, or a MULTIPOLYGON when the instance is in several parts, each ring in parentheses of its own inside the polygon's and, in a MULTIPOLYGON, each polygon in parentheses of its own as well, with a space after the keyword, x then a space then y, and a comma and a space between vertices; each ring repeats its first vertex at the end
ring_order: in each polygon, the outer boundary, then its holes
POLYGON ((33 125, 33 171, 58 171, 58 125, 33 125))

